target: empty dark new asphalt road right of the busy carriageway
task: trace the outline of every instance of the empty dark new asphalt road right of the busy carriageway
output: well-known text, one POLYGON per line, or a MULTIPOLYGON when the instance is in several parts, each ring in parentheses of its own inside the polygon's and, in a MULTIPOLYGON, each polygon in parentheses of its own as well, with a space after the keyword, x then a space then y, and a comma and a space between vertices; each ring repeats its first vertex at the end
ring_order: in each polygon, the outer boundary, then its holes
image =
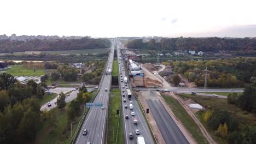
POLYGON ((147 103, 165 143, 189 143, 160 100, 147 99, 147 103))

